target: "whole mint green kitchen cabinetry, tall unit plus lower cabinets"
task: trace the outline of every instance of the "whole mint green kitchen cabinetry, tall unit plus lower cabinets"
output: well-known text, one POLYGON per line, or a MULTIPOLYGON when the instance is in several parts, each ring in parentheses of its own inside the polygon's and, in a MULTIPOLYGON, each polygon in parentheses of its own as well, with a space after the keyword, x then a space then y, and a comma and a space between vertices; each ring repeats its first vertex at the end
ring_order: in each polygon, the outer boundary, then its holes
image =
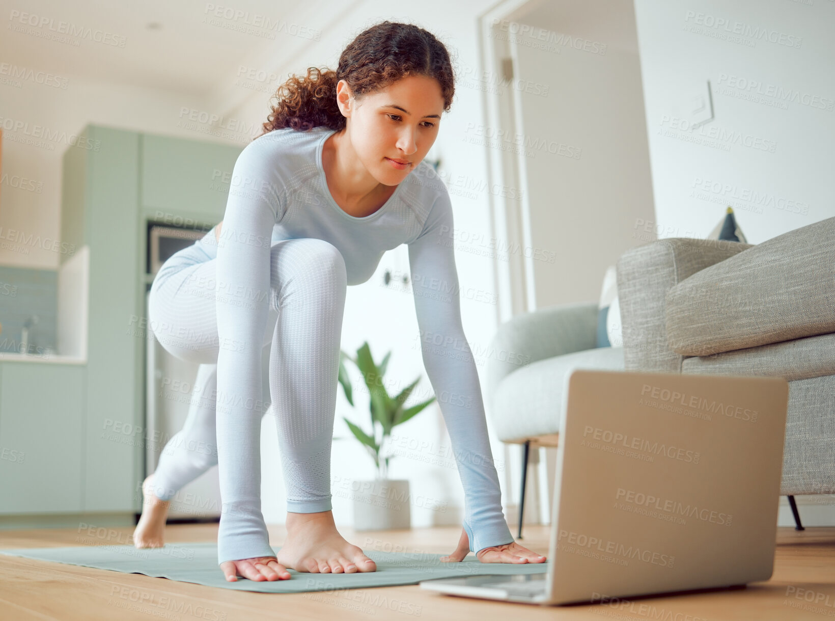
POLYGON ((222 220, 243 149, 100 125, 78 143, 61 235, 89 247, 88 359, 0 360, 0 515, 141 510, 148 223, 222 220))

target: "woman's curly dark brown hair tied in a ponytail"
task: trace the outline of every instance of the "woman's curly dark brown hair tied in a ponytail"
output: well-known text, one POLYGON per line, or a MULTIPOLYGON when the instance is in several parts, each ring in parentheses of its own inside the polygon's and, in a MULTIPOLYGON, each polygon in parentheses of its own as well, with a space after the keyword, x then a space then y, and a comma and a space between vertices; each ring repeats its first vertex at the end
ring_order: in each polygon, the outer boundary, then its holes
POLYGON ((342 50, 336 71, 309 67, 305 76, 291 74, 271 98, 277 99, 278 104, 271 105, 259 137, 284 127, 306 131, 326 125, 331 130, 342 130, 346 120, 337 105, 339 80, 344 79, 359 98, 411 75, 437 79, 443 110, 449 111, 455 75, 443 43, 433 33, 411 23, 374 24, 342 50))

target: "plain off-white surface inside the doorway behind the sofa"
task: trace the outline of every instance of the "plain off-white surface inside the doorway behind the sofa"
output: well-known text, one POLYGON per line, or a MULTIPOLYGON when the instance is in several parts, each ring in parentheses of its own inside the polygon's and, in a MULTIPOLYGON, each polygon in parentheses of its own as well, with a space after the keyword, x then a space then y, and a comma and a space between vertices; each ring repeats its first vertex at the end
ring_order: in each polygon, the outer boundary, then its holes
POLYGON ((606 267, 646 241, 635 221, 654 219, 632 3, 544 3, 516 20, 532 28, 514 37, 519 77, 549 87, 519 89, 520 133, 549 145, 519 156, 530 246, 544 250, 529 306, 597 302, 606 267))

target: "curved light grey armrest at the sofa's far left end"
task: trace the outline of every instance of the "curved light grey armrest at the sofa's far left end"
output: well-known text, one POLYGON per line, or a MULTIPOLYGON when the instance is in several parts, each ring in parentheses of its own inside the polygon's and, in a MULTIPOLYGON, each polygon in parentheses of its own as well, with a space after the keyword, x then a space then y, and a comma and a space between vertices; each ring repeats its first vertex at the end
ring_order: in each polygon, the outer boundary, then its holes
POLYGON ((559 304, 521 313, 502 323, 490 342, 485 365, 486 392, 527 364, 593 349, 597 345, 597 303, 559 304))

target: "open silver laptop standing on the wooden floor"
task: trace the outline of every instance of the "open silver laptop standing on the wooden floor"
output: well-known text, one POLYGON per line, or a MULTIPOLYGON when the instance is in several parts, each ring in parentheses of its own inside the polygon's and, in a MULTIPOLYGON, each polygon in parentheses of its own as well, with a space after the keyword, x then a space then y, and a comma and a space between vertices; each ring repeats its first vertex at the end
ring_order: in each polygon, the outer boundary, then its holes
POLYGON ((420 587, 555 605, 767 580, 787 405, 783 378, 574 369, 543 572, 420 587))

